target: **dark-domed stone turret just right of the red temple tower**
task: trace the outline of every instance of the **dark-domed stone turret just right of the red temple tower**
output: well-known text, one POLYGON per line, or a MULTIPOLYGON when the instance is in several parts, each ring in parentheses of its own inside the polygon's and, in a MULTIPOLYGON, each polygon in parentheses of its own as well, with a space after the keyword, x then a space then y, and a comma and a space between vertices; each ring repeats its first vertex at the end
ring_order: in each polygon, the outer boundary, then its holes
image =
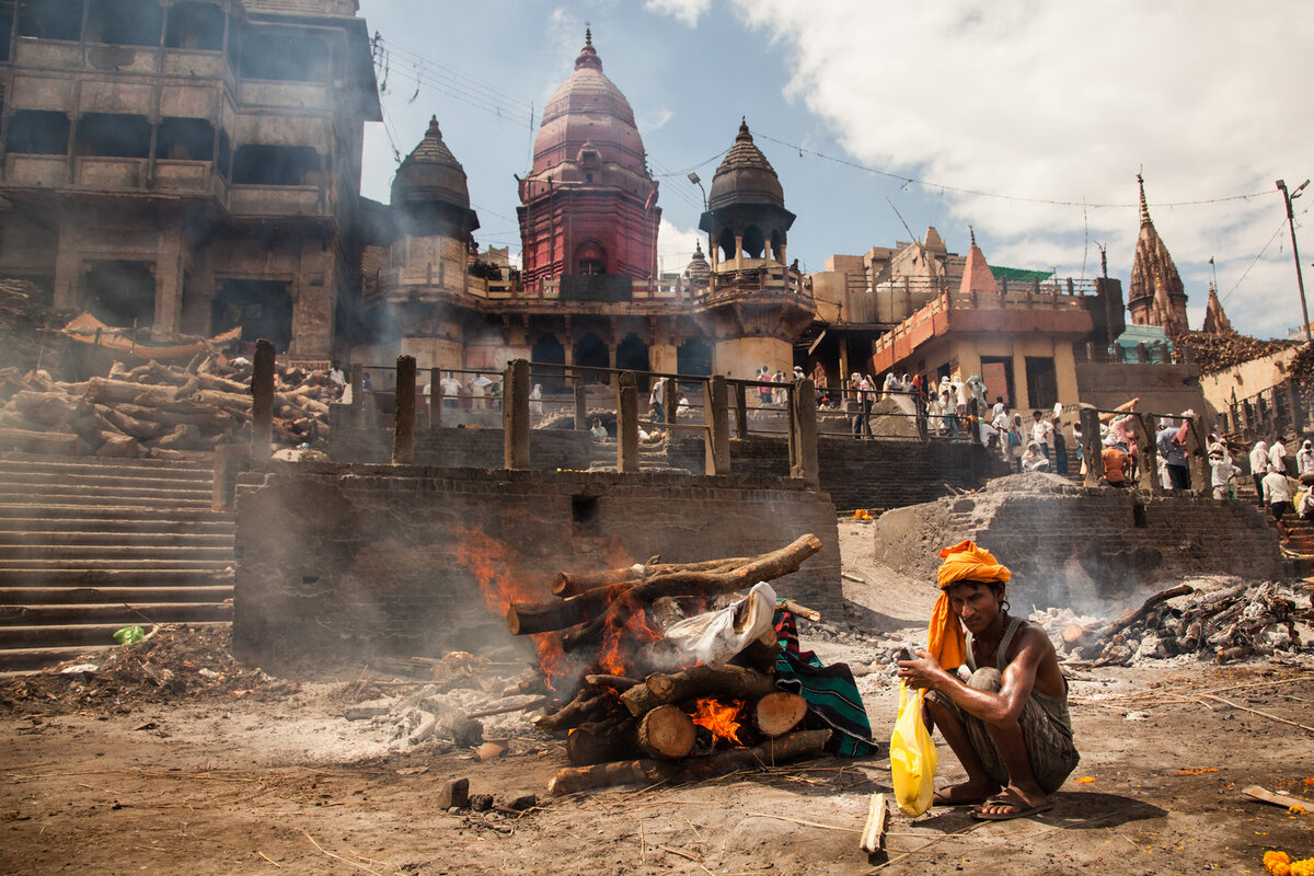
POLYGON ((748 121, 712 177, 699 229, 712 255, 711 289, 699 322, 715 343, 717 373, 752 377, 766 365, 788 374, 794 339, 816 315, 798 268, 786 267, 794 214, 775 169, 753 143, 748 121))

